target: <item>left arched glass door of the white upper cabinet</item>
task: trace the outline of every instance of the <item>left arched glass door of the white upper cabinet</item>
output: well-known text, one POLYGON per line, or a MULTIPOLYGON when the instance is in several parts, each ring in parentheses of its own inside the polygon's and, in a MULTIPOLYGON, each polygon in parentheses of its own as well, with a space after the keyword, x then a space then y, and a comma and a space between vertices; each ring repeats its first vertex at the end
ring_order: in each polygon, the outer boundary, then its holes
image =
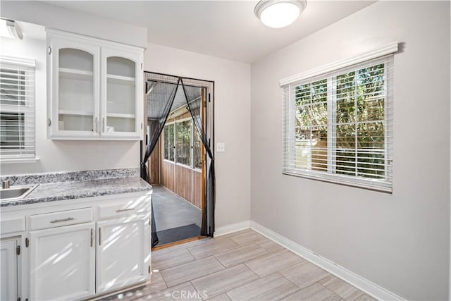
POLYGON ((99 135, 99 47, 55 39, 53 129, 63 136, 99 135))

